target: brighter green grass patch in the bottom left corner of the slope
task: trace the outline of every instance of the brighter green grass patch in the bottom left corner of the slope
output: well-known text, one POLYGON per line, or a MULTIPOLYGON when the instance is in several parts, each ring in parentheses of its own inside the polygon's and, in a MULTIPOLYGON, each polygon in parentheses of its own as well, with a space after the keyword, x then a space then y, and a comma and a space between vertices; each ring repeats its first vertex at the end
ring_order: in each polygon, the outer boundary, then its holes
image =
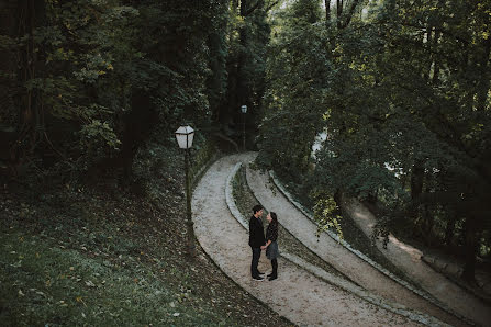
POLYGON ((114 261, 20 230, 2 234, 8 274, 2 277, 1 306, 8 325, 171 325, 214 318, 176 301, 174 290, 138 257, 114 261))

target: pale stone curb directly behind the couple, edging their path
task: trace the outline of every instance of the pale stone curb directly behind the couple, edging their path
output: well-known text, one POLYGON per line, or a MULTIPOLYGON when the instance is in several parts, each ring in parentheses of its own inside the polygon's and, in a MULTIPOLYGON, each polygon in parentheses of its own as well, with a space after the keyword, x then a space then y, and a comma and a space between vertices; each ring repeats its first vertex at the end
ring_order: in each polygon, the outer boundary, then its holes
MULTIPOLYGON (((225 200, 226 204, 228 206, 230 212, 235 217, 235 219, 247 230, 248 229, 248 223, 247 219, 243 216, 243 214, 238 211, 237 205, 235 204, 235 200, 233 198, 232 189, 233 189, 233 180, 237 173, 237 171, 242 168, 243 164, 238 162, 235 165, 234 169, 230 172, 226 184, 225 184, 225 200)), ((414 312, 403 305, 395 304, 395 303, 389 303, 384 298, 370 294, 364 289, 355 285, 351 282, 345 281, 319 267, 315 267, 303 259, 301 259, 298 256, 281 251, 281 257, 291 263, 300 267, 301 269, 304 269, 309 271, 310 273, 314 274, 315 277, 322 279, 323 281, 337 286, 348 293, 351 293, 373 305, 377 305, 379 307, 382 307, 389 312, 392 312, 394 314, 404 316, 413 322, 426 325, 426 326, 450 326, 442 320, 426 315, 419 312, 414 312)))

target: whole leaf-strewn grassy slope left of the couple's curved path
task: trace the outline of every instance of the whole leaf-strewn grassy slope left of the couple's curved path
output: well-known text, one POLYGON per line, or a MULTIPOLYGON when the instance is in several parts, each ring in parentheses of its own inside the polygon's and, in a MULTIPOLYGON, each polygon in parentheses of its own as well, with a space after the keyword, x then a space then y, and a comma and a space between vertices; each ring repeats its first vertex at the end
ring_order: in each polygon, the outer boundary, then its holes
POLYGON ((0 196, 2 326, 288 326, 198 248, 185 255, 181 167, 145 192, 9 184, 0 196))

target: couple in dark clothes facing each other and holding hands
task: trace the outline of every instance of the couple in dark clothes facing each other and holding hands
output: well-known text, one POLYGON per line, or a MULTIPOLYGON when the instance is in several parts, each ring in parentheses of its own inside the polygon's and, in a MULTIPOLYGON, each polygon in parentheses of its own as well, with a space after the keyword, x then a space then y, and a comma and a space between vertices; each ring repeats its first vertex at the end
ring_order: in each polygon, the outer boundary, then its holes
POLYGON ((264 278, 257 270, 257 264, 259 263, 260 251, 266 250, 266 257, 271 260, 272 272, 268 274, 270 281, 274 281, 278 278, 278 243, 276 241, 278 238, 278 219, 276 217, 276 213, 270 212, 266 219, 268 219, 269 225, 268 229, 266 229, 266 238, 265 238, 265 229, 263 228, 263 221, 260 219, 263 215, 264 208, 260 205, 255 205, 253 207, 253 216, 249 221, 249 246, 253 249, 253 262, 250 264, 250 274, 253 275, 253 280, 263 281, 264 278))

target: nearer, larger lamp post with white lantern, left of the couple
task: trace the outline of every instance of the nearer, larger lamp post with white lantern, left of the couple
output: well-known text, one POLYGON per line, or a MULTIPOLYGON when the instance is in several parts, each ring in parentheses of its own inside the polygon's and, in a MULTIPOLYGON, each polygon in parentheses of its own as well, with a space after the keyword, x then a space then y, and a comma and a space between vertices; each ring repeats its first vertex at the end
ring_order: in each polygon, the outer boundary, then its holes
POLYGON ((180 126, 176 131, 176 138, 179 147, 185 149, 185 171, 186 171, 186 216, 187 216, 187 225, 188 225, 188 255, 190 257, 196 256, 196 246, 194 246, 194 230, 192 228, 192 218, 191 218, 191 188, 189 181, 189 149, 192 146, 192 139, 194 137, 194 129, 190 126, 180 126))

